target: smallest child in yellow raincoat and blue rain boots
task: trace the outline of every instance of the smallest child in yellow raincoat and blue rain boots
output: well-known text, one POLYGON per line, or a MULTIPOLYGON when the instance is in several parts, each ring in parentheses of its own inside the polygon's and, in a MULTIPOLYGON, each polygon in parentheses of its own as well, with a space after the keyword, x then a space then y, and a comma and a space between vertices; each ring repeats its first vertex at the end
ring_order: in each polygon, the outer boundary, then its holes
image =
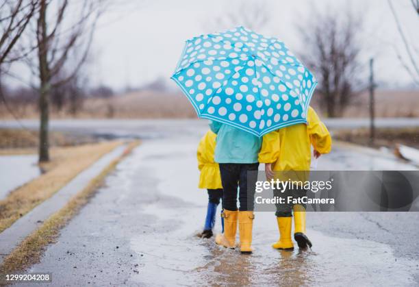
MULTIPOLYGON (((220 199, 223 197, 220 169, 218 164, 214 162, 215 145, 216 134, 208 131, 207 134, 201 138, 196 154, 198 158, 198 169, 201 171, 199 188, 207 188, 208 191, 207 217, 205 219, 203 232, 199 234, 201 238, 212 237, 217 206, 220 203, 220 199)), ((223 219, 221 224, 223 225, 223 219)))

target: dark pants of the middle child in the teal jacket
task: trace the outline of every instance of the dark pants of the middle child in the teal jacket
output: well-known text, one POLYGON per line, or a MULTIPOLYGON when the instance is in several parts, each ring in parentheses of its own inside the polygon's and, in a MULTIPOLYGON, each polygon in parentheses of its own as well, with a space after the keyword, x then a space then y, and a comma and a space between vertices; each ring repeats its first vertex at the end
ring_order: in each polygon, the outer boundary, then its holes
POLYGON ((223 184, 223 208, 237 210, 237 192, 239 188, 240 211, 253 211, 257 173, 249 175, 248 171, 257 171, 255 164, 220 164, 221 183, 223 184), (251 190, 248 190, 251 186, 251 190))

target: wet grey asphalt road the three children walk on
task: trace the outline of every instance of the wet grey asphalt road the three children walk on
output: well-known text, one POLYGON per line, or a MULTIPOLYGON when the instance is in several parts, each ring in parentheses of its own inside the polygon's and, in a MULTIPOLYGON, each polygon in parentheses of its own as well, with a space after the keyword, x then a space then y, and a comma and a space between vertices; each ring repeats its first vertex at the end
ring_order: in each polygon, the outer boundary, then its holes
MULTIPOLYGON (((144 140, 29 272, 51 272, 54 286, 419 283, 418 212, 309 213, 307 234, 314 247, 305 252, 270 247, 278 237, 270 212, 256 214, 252 255, 196 238, 207 201, 206 192, 196 188, 196 145, 203 133, 205 125, 173 125, 144 140)), ((319 169, 414 167, 335 148, 321 158, 319 169)))

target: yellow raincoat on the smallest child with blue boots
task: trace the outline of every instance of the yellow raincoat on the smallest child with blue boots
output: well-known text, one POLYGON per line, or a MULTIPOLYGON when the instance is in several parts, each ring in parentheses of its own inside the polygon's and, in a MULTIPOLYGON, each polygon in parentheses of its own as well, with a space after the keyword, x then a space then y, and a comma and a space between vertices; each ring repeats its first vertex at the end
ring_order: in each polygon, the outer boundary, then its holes
POLYGON ((223 188, 221 185, 220 167, 214 162, 216 137, 216 134, 208 131, 199 142, 198 151, 196 153, 196 157, 198 158, 198 169, 201 171, 199 188, 223 188))

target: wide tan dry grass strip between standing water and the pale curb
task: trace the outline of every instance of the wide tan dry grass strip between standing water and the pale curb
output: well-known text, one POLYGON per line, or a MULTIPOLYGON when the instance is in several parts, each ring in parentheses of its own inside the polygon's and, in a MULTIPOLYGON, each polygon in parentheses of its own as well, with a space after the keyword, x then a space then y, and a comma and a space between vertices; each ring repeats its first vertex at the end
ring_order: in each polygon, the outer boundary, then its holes
POLYGON ((51 149, 51 162, 41 166, 45 173, 0 201, 0 232, 120 144, 114 141, 51 149))

